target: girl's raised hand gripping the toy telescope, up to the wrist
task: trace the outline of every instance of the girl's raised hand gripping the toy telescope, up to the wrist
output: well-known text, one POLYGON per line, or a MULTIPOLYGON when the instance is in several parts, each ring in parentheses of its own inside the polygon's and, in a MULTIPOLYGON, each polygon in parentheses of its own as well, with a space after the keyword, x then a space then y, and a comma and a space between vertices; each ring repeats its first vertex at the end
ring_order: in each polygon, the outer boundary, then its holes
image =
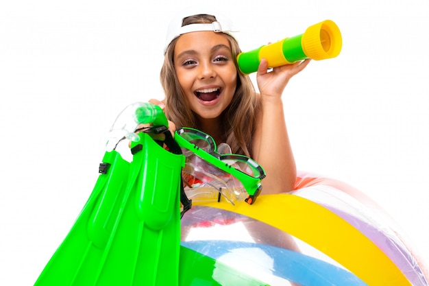
POLYGON ((310 59, 306 59, 293 64, 285 64, 281 67, 275 67, 272 71, 268 70, 268 62, 265 58, 260 60, 256 81, 261 95, 270 97, 281 97, 289 80, 305 67, 310 59))

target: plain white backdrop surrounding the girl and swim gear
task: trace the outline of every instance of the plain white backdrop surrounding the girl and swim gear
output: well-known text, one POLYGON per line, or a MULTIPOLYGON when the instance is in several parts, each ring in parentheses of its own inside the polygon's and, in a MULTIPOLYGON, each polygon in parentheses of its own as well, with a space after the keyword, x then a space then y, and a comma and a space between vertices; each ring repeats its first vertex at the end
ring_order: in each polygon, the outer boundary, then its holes
MULTIPOLYGON (((157 2, 1 2, 0 285, 36 281, 92 191, 116 116, 162 99, 167 23, 193 2, 157 2)), ((429 261, 429 2, 210 3, 244 51, 339 25, 341 54, 284 91, 297 167, 369 195, 429 261)))

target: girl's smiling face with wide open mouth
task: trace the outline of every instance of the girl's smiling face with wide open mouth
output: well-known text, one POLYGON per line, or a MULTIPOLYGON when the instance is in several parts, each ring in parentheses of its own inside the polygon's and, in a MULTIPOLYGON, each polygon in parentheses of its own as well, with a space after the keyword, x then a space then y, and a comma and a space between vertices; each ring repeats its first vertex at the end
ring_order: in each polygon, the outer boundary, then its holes
POLYGON ((174 67, 189 106, 201 119, 219 117, 231 103, 237 70, 224 34, 183 34, 175 44, 174 67))

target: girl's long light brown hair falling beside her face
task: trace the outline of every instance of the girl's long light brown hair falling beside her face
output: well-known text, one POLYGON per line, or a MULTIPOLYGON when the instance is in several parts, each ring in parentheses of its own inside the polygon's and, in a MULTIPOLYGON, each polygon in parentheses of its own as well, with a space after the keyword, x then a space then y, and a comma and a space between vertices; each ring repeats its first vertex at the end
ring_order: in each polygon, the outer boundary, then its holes
MULTIPOLYGON (((199 14, 184 19, 182 26, 193 23, 212 23, 215 16, 199 14)), ((234 59, 241 53, 238 43, 232 36, 224 34, 231 45, 234 59)), ((164 56, 160 73, 162 88, 165 93, 165 113, 177 128, 201 128, 195 113, 188 106, 182 87, 174 69, 174 48, 177 38, 171 41, 164 56)), ((236 60, 234 60, 236 64, 236 60)), ((252 156, 252 137, 256 123, 256 114, 260 106, 260 97, 256 94, 252 81, 237 68, 236 91, 232 102, 223 111, 223 138, 230 145, 233 153, 252 156)), ((204 131, 204 130, 201 130, 204 131)))

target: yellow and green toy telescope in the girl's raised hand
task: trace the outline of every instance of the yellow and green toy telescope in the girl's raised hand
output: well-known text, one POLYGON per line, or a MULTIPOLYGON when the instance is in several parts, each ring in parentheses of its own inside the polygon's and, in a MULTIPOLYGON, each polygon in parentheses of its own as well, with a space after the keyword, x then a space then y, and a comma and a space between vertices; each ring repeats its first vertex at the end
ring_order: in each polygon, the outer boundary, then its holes
POLYGON ((304 34, 240 53, 237 64, 242 73, 249 74, 258 71, 262 58, 268 61, 270 68, 306 58, 325 60, 338 56, 342 45, 339 27, 333 21, 325 20, 308 27, 304 34))

